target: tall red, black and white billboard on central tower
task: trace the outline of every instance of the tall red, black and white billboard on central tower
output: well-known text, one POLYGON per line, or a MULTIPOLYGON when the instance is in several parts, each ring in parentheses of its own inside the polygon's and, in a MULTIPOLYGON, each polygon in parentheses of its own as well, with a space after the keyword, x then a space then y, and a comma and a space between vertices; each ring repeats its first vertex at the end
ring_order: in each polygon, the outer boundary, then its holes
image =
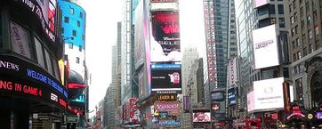
POLYGON ((181 61, 179 12, 150 12, 151 62, 181 61))

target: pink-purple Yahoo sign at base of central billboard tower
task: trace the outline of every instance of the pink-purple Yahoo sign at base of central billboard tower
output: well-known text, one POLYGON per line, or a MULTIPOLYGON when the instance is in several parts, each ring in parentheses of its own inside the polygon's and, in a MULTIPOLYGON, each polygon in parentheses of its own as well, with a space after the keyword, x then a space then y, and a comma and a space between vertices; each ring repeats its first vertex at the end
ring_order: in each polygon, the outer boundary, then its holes
POLYGON ((156 101, 154 109, 158 112, 168 112, 169 116, 180 115, 180 102, 179 101, 156 101))

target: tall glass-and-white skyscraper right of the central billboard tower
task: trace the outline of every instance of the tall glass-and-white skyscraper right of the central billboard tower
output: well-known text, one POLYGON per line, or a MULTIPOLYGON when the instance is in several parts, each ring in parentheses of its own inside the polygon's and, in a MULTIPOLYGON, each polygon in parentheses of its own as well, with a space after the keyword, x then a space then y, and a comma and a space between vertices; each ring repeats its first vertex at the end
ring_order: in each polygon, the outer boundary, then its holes
MULTIPOLYGON (((237 36, 234 0, 204 0, 205 16, 205 107, 210 109, 211 93, 227 88, 229 57, 237 56, 237 36)), ((226 107, 225 101, 216 101, 226 107)), ((225 109, 212 111, 212 117, 224 116, 225 109)))

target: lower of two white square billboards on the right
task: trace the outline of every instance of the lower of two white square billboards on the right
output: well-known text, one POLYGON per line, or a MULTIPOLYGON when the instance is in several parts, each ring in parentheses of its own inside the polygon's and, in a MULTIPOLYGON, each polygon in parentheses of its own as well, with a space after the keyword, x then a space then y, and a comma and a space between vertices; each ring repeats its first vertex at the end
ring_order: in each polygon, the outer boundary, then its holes
POLYGON ((254 81, 254 109, 284 109, 284 77, 254 81))

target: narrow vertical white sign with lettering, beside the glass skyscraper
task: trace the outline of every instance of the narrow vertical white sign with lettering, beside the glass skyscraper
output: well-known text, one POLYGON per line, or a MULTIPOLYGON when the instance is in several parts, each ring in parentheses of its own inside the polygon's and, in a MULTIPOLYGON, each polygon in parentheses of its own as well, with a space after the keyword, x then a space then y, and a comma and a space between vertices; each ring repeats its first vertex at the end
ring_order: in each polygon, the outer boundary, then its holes
POLYGON ((237 86, 237 58, 231 58, 228 67, 228 86, 237 86))

